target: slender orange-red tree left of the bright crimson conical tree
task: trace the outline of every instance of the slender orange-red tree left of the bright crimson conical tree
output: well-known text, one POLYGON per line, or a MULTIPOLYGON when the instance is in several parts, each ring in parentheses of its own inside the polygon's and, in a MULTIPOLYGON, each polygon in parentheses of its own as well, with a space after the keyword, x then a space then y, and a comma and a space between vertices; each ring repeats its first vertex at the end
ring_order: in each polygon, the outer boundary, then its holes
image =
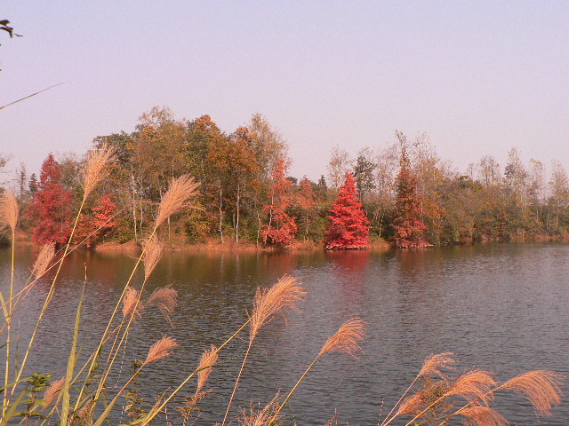
POLYGON ((271 175, 269 192, 271 202, 264 206, 268 214, 268 225, 263 226, 263 241, 281 247, 290 245, 298 232, 294 217, 288 216, 285 211, 290 205, 286 189, 291 185, 291 181, 286 178, 286 169, 284 159, 279 158, 271 175))

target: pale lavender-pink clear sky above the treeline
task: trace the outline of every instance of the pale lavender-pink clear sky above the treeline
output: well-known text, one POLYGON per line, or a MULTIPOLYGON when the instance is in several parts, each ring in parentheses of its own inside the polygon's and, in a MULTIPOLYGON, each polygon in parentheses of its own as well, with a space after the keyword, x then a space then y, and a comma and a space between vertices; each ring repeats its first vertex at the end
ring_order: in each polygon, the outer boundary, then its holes
MULTIPOLYGON (((228 133, 264 114, 294 177, 425 132, 457 171, 484 155, 569 168, 569 2, 12 1, 0 19, 7 170, 134 130, 153 106, 228 133)), ((4 178, 5 180, 5 178, 4 178)))

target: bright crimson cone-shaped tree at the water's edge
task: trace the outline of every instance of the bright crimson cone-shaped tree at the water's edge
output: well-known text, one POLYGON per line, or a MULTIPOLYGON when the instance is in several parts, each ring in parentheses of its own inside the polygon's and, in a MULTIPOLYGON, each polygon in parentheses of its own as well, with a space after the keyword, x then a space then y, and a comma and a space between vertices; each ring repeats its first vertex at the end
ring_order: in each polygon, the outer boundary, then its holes
POLYGON ((330 208, 330 222, 325 234, 326 248, 368 248, 370 222, 359 201, 356 181, 349 173, 340 187, 338 199, 330 208))

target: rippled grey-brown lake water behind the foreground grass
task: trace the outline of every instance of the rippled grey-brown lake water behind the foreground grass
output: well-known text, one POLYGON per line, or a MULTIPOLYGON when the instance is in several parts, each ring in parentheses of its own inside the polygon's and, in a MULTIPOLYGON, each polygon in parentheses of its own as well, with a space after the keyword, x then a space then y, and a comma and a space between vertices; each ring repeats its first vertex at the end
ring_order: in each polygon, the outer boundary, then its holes
MULTIPOLYGON (((35 255, 33 248, 19 249, 19 282, 35 255)), ((166 254, 148 290, 172 284, 179 291, 173 327, 159 312, 145 312, 130 336, 124 375, 132 359, 144 359, 166 333, 180 341, 180 348, 148 370, 143 387, 157 394, 180 383, 210 343, 223 342, 243 324, 257 286, 268 286, 284 273, 301 280, 308 296, 287 323, 276 319, 261 330, 234 406, 267 402, 276 391, 289 390, 328 335, 355 316, 367 322, 364 353, 359 359, 326 354, 291 400, 287 413, 293 422, 323 424, 336 411, 341 423, 377 424, 381 410, 389 411, 434 352, 453 351, 462 367, 489 369, 499 381, 538 368, 569 375, 568 260, 569 246, 540 244, 397 253, 166 254)), ((34 371, 56 378, 65 374, 68 330, 85 268, 82 343, 87 352, 133 264, 132 257, 120 254, 81 252, 69 258, 31 360, 34 371)), ((0 274, 5 286, 7 250, 0 251, 0 274)), ((46 288, 44 283, 34 290, 18 317, 24 338, 46 288)), ((222 418, 245 348, 246 338, 222 352, 202 406, 204 420, 222 418)), ((523 398, 503 397, 497 407, 513 423, 567 424, 567 398, 553 417, 538 421, 523 398)))

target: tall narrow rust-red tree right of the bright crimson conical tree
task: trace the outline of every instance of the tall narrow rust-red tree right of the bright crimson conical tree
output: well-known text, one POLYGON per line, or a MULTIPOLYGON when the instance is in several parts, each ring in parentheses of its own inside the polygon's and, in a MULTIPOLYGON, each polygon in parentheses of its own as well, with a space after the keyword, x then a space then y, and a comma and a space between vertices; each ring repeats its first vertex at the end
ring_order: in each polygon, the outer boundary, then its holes
POLYGON ((397 248, 423 247, 428 243, 423 239, 427 226, 419 220, 421 217, 421 194, 417 193, 417 183, 409 167, 409 158, 405 147, 401 152, 401 170, 396 179, 397 198, 393 227, 394 244, 397 248))

